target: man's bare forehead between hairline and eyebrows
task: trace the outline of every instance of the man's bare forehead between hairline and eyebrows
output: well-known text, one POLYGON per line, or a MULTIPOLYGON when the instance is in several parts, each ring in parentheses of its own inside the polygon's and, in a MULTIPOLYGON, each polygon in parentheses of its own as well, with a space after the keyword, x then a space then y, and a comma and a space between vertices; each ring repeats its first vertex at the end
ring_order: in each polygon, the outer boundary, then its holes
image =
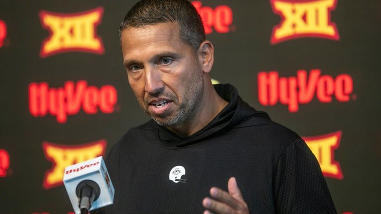
POLYGON ((187 52, 191 47, 180 38, 177 23, 164 22, 142 27, 128 27, 121 34, 125 60, 156 52, 187 52))

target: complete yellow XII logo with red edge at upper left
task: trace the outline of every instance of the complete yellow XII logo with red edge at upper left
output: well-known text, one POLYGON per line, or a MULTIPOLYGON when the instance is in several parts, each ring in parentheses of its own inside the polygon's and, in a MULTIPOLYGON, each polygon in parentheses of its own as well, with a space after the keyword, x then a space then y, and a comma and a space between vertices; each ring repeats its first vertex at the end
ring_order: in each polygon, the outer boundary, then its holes
POLYGON ((103 54, 102 40, 96 35, 102 15, 103 7, 79 13, 40 11, 41 24, 51 32, 42 43, 40 56, 73 51, 103 54))

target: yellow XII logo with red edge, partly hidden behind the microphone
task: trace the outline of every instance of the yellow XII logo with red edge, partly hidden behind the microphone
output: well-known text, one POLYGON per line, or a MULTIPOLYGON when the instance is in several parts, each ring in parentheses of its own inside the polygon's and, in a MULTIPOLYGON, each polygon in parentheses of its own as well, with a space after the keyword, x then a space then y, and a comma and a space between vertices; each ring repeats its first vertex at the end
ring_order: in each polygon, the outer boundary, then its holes
POLYGON ((59 145, 43 142, 45 157, 53 162, 53 167, 45 173, 43 187, 50 189, 62 185, 66 166, 103 155, 106 144, 106 140, 81 145, 59 145))

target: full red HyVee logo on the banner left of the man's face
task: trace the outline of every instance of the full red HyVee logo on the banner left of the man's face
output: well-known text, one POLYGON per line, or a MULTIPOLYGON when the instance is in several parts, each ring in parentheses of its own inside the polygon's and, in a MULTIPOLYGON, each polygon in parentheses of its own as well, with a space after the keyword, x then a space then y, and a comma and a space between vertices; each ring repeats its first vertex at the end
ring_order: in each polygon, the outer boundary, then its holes
POLYGON ((66 81, 64 87, 49 88, 48 83, 29 84, 29 112, 34 117, 44 117, 48 112, 56 116, 58 123, 65 123, 67 115, 75 115, 82 107, 87 114, 113 113, 118 101, 114 86, 101 88, 88 86, 87 81, 66 81), (75 89, 74 89, 75 88, 75 89))

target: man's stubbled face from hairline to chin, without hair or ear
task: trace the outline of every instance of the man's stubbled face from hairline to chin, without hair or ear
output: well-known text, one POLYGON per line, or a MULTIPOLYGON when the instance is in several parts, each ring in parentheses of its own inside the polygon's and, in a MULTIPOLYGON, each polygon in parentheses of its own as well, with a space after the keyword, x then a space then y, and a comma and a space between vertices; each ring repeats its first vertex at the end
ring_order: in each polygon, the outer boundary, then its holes
POLYGON ((180 39, 177 23, 129 27, 121 35, 129 84, 141 108, 158 124, 188 122, 198 111, 203 72, 197 55, 180 39))

